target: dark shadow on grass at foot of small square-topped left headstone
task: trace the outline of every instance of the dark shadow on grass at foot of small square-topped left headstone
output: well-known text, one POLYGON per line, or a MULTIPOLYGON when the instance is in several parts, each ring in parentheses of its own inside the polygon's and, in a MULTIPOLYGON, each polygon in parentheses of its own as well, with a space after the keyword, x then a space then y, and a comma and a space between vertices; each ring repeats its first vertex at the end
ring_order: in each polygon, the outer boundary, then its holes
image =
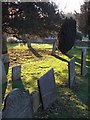
POLYGON ((12 89, 14 89, 14 88, 19 88, 20 90, 25 90, 21 79, 12 81, 12 89))

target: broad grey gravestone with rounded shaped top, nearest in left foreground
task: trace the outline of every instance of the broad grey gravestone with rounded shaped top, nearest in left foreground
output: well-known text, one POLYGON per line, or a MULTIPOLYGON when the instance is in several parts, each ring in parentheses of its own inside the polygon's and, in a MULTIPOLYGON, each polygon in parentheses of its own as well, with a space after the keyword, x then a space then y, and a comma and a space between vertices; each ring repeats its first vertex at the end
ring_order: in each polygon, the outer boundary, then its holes
POLYGON ((33 109, 29 91, 13 89, 6 97, 2 118, 32 118, 33 109))

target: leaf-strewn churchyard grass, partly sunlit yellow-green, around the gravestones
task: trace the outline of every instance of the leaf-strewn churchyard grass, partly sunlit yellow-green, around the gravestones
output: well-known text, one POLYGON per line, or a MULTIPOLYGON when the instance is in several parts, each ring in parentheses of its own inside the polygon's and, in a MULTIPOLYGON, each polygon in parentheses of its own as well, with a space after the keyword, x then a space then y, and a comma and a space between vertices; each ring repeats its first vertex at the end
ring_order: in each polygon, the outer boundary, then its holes
MULTIPOLYGON (((57 88, 57 100, 47 110, 39 110, 35 118, 88 118, 88 96, 90 79, 90 48, 87 49, 86 67, 87 75, 81 76, 81 48, 73 47, 69 53, 75 57, 76 85, 68 87, 68 62, 70 58, 56 50, 56 55, 51 55, 52 45, 32 44, 32 50, 20 44, 8 45, 10 67, 8 83, 4 99, 13 88, 28 89, 30 93, 37 90, 37 80, 54 69, 57 88), (12 67, 21 65, 21 80, 12 81, 12 67)), ((3 103, 4 104, 4 103, 3 103)), ((3 108, 2 104, 2 108, 3 108)))

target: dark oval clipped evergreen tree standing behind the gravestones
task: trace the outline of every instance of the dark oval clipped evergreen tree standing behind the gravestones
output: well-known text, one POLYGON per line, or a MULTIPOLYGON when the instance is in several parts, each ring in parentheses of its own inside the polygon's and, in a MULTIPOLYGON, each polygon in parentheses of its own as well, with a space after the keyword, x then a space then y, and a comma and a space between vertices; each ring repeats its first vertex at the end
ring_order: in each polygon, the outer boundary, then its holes
POLYGON ((58 49, 67 53, 74 45, 76 37, 76 21, 73 18, 66 18, 58 34, 58 49))

